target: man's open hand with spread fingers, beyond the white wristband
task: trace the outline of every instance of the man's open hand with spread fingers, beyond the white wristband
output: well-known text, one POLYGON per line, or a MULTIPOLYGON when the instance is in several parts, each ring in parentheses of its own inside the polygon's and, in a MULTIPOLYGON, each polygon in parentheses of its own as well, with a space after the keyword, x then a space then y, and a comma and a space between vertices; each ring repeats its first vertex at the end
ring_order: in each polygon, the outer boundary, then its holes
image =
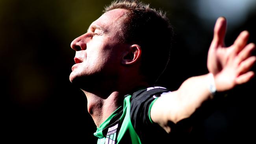
POLYGON ((215 77, 215 85, 219 91, 229 90, 249 81, 254 76, 254 72, 249 70, 256 61, 255 56, 250 56, 255 46, 247 45, 247 31, 243 31, 230 47, 224 46, 225 32, 226 20, 219 18, 214 28, 207 61, 208 70, 215 77))

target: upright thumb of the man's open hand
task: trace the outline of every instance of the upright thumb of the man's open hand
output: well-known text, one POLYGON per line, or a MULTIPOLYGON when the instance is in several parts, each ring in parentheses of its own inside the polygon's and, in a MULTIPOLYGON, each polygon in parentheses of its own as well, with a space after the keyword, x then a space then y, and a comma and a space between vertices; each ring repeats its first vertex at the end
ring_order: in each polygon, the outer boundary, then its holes
POLYGON ((217 46, 224 46, 224 38, 226 34, 226 18, 219 17, 215 23, 213 43, 217 46))

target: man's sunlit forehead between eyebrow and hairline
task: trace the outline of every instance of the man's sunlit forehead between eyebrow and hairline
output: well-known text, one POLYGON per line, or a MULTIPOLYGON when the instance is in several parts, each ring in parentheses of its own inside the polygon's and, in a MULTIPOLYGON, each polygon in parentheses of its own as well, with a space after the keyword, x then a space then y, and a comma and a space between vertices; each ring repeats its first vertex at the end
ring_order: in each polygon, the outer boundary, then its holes
POLYGON ((104 30, 109 30, 119 24, 120 18, 122 18, 128 10, 126 9, 113 9, 104 13, 97 20, 95 20, 89 28, 100 28, 104 30))

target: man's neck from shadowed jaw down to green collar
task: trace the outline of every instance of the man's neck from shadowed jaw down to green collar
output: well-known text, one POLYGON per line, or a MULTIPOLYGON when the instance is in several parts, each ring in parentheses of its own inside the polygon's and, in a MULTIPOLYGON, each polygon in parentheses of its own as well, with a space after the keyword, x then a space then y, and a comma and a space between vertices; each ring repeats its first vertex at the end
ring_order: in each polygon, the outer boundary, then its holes
MULTIPOLYGON (((126 78, 126 77, 124 77, 126 78)), ((100 126, 118 107, 123 105, 124 95, 134 92, 141 87, 148 87, 143 81, 130 81, 124 79, 118 84, 105 82, 97 87, 104 89, 82 89, 87 97, 87 109, 97 127, 100 126), (124 85, 125 84, 125 85, 124 85), (110 87, 109 87, 110 86, 110 87), (113 89, 115 88, 115 89, 113 89)))

